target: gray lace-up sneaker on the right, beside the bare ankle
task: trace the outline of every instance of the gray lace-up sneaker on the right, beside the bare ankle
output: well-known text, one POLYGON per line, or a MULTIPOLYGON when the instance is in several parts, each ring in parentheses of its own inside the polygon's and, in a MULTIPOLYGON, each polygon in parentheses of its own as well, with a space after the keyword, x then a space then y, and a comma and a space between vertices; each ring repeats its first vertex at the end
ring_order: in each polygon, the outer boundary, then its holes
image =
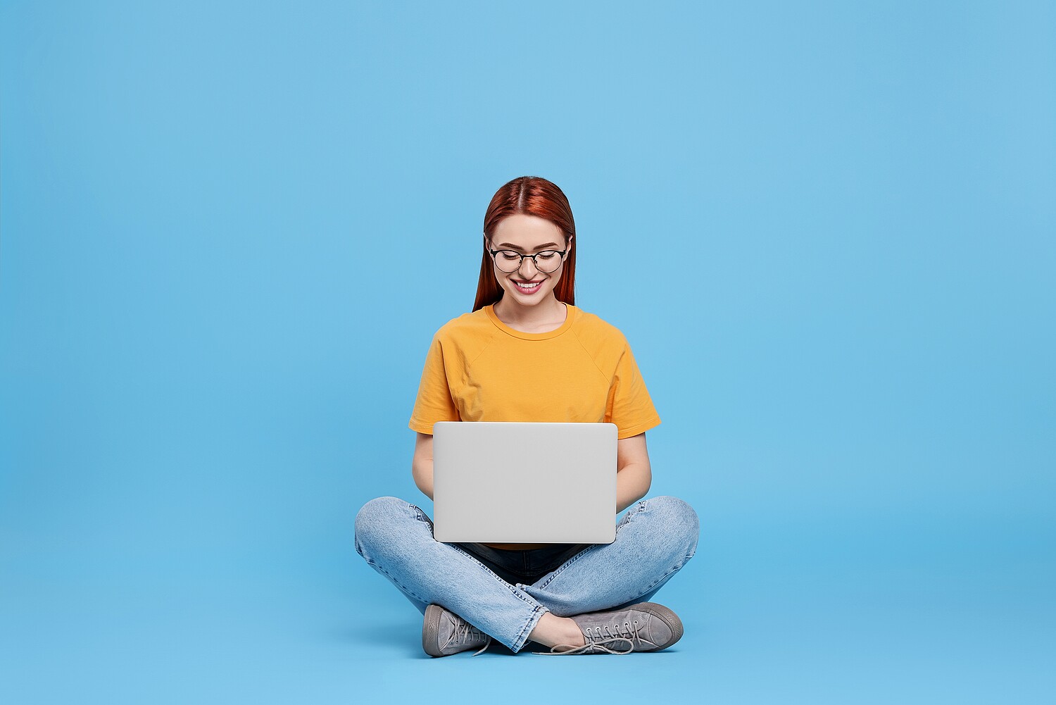
POLYGON ((682 620, 666 607, 656 602, 638 602, 622 610, 578 614, 572 619, 583 631, 586 644, 559 644, 549 651, 532 653, 552 656, 659 651, 682 638, 682 620))

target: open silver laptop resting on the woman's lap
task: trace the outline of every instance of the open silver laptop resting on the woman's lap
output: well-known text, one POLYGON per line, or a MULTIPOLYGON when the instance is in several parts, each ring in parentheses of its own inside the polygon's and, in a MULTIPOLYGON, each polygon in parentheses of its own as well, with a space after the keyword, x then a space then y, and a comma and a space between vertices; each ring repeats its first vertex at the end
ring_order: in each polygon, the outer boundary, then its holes
POLYGON ((611 543, 616 440, 616 424, 437 422, 434 538, 611 543))

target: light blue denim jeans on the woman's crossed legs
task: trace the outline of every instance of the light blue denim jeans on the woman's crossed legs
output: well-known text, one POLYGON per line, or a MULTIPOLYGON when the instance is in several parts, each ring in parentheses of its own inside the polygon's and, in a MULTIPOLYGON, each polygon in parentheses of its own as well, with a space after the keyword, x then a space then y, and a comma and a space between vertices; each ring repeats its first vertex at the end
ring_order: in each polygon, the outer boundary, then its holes
POLYGON ((567 617, 648 600, 697 551, 697 513, 677 497, 628 507, 612 543, 507 551, 444 543, 419 507, 379 497, 356 515, 356 552, 422 614, 451 610, 516 653, 544 612, 567 617))

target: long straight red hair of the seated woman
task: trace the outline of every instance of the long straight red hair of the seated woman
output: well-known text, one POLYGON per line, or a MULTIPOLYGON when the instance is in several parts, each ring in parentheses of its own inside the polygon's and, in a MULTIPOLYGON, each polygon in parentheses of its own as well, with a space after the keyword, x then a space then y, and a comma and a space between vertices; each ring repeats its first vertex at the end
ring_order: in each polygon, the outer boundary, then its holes
POLYGON ((576 305, 576 221, 568 199, 558 186, 542 177, 517 177, 503 185, 491 197, 488 210, 484 214, 484 253, 480 258, 480 280, 476 284, 476 301, 473 311, 495 303, 503 298, 503 287, 495 280, 494 261, 488 253, 488 239, 495 231, 499 221, 516 214, 527 214, 545 218, 561 228, 565 243, 569 246, 565 263, 562 264, 561 280, 553 289, 559 301, 576 305), (569 240, 571 242, 569 243, 569 240))

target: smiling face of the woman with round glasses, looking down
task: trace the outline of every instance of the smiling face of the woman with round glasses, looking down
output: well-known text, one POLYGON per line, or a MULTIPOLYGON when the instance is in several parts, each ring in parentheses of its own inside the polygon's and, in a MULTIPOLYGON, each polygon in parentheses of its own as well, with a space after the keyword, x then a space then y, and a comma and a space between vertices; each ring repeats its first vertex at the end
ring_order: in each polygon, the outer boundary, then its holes
MULTIPOLYGON (((569 243, 570 244, 570 243, 569 243)), ((561 228, 538 216, 515 214, 498 222, 491 236, 491 249, 512 249, 523 255, 534 255, 544 249, 565 249, 565 238, 561 228)), ((498 257, 502 257, 499 255, 498 257)), ((567 259, 565 255, 564 259, 567 259)), ((561 281, 561 273, 565 268, 564 261, 555 271, 549 274, 535 268, 535 263, 529 257, 521 260, 521 268, 516 272, 503 272, 497 263, 492 261, 492 272, 503 287, 503 298, 521 305, 536 305, 540 301, 553 299, 553 287, 561 281), (539 282, 531 287, 522 289, 521 283, 539 282)), ((504 304, 505 305, 505 304, 504 304)))

